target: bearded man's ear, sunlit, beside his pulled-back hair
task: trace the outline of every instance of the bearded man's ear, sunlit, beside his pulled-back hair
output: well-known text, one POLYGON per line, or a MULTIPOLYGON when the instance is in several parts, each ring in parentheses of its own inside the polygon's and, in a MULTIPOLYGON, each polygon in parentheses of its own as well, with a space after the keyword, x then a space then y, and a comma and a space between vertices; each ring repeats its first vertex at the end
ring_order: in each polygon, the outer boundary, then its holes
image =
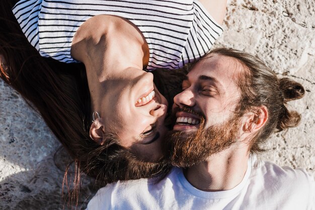
POLYGON ((256 132, 262 128, 268 120, 268 109, 266 106, 253 107, 252 111, 244 115, 243 131, 256 132))

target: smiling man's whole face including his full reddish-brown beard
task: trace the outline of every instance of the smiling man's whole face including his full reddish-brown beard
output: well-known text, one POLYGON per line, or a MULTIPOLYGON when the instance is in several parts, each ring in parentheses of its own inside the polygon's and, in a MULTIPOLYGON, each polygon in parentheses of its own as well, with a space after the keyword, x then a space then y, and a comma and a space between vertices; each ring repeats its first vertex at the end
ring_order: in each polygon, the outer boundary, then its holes
POLYGON ((240 133, 235 113, 240 99, 237 74, 242 66, 229 57, 214 55, 199 61, 175 96, 174 130, 166 138, 170 161, 189 167, 230 147, 240 133))

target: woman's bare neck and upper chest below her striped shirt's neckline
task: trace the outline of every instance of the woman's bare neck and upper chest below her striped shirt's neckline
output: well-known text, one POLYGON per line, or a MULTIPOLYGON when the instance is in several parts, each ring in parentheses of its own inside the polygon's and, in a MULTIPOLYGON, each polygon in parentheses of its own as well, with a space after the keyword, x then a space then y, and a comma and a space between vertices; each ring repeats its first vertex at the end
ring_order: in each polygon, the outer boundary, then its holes
POLYGON ((87 20, 75 33, 71 55, 82 61, 87 74, 100 81, 128 67, 147 65, 148 45, 139 29, 126 19, 101 15, 87 20))

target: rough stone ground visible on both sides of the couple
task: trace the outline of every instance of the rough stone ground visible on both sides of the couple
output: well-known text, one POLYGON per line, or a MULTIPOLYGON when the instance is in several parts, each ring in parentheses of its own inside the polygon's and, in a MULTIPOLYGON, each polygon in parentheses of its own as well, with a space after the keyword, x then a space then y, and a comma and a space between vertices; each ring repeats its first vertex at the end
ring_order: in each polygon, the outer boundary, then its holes
MULTIPOLYGON (((260 158, 305 168, 315 176, 315 2, 253 2, 228 2, 224 34, 216 46, 253 53, 279 77, 304 86, 305 97, 288 105, 301 114, 300 125, 273 134, 266 144, 269 151, 260 158)), ((0 209, 63 208, 60 162, 67 155, 59 147, 39 114, 0 81, 0 209)), ((93 184, 87 179, 79 206, 84 208, 91 194, 93 184)))

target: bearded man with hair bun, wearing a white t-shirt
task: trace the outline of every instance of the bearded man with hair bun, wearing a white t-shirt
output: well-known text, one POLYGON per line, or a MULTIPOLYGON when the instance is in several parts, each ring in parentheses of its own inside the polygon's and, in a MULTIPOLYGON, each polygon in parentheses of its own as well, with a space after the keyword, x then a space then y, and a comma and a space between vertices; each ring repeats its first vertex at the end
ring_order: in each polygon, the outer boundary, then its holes
POLYGON ((278 80, 252 55, 221 48, 194 65, 182 88, 166 143, 170 162, 184 169, 110 184, 88 209, 315 208, 314 179, 304 170, 254 155, 275 129, 297 125, 299 115, 284 104, 303 96, 300 84, 278 80))

